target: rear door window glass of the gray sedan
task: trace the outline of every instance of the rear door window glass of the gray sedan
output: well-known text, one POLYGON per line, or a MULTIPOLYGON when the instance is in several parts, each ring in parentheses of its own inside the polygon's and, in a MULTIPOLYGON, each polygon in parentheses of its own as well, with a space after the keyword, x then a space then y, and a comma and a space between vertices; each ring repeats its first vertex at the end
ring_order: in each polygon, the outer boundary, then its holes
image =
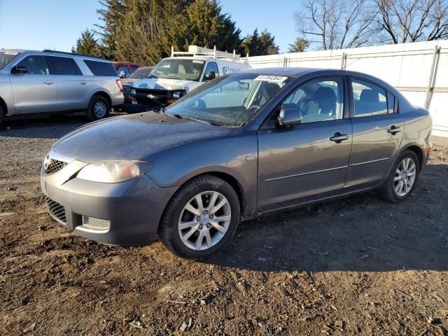
POLYGON ((365 80, 353 78, 354 115, 379 116, 388 113, 386 90, 365 80))

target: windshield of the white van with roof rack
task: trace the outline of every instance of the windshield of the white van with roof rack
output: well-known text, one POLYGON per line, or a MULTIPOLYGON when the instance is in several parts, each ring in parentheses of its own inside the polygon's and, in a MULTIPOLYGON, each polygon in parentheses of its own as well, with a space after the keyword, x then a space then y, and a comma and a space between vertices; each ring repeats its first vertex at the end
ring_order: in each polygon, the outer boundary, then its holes
POLYGON ((199 80, 204 63, 200 59, 162 59, 150 75, 156 78, 199 80))

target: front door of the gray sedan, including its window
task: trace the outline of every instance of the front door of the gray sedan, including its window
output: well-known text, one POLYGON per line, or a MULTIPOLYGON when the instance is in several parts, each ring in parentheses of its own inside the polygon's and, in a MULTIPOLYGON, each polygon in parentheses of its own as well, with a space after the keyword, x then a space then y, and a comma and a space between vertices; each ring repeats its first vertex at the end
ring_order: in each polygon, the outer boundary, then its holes
POLYGON ((283 101, 297 104, 300 125, 260 128, 258 211, 309 202, 343 188, 352 141, 346 92, 345 76, 311 80, 283 101))

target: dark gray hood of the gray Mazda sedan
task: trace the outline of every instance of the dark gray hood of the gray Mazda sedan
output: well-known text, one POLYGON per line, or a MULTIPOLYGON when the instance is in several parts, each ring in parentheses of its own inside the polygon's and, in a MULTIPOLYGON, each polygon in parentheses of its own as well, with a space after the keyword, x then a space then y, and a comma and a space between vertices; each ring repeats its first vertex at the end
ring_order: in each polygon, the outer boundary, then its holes
POLYGON ((90 123, 59 139, 52 149, 83 162, 150 160, 164 149, 230 132, 228 127, 146 112, 90 123))

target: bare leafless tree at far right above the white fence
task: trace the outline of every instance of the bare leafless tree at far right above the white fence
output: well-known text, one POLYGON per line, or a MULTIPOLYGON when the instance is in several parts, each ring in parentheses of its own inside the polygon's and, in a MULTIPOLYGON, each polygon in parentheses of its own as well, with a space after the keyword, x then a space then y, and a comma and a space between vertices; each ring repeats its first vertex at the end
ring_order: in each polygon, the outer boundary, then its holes
POLYGON ((448 37, 447 0, 375 0, 383 42, 433 41, 448 37))

